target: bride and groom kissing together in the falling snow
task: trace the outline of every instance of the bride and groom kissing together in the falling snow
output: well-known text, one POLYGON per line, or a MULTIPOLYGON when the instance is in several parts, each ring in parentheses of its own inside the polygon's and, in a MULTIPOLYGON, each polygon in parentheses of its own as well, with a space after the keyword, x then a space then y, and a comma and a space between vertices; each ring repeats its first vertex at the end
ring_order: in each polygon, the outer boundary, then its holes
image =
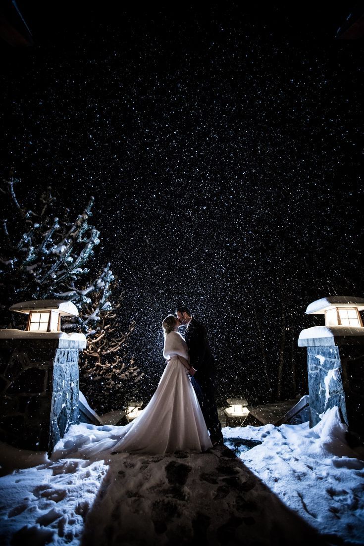
POLYGON ((186 307, 169 314, 162 328, 167 365, 140 416, 120 427, 113 453, 201 453, 223 443, 206 329, 186 307), (182 325, 185 339, 178 332, 182 325))

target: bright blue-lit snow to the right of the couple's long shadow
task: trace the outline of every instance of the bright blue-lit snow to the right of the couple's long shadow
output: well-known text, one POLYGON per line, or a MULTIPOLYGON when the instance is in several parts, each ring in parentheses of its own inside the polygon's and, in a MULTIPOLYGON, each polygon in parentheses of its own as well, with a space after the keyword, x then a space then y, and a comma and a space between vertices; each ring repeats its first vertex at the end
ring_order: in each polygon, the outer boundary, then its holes
POLYGON ((246 466, 310 525, 362 544, 364 451, 348 446, 337 407, 321 417, 312 429, 308 423, 225 428, 225 443, 262 442, 248 451, 244 443, 235 447, 246 466))

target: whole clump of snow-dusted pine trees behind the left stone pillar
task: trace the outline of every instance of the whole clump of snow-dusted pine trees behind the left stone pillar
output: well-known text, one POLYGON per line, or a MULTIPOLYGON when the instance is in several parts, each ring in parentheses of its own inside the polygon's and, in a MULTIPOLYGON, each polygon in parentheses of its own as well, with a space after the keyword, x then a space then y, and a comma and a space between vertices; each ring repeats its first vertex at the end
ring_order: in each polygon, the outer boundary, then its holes
POLYGON ((63 329, 84 333, 88 342, 80 362, 81 390, 91 405, 102 400, 102 405, 95 406, 97 411, 116 408, 118 404, 121 408, 126 401, 124 395, 133 392, 143 374, 133 358, 126 360, 125 347, 134 325, 126 334, 121 333, 121 295, 115 305, 111 304, 116 281, 110 264, 92 282, 93 271, 86 267, 99 244, 99 232, 89 224, 94 199, 91 197, 83 213, 74 219, 69 209, 56 216, 52 210, 55 197, 48 187, 40 197, 40 210, 33 212, 20 206, 15 193, 19 184, 20 180, 10 172, 0 185, 0 327, 24 328, 24 317, 9 312, 10 305, 16 302, 72 301, 79 317, 63 319, 63 329), (96 359, 97 365, 92 359, 96 359))

